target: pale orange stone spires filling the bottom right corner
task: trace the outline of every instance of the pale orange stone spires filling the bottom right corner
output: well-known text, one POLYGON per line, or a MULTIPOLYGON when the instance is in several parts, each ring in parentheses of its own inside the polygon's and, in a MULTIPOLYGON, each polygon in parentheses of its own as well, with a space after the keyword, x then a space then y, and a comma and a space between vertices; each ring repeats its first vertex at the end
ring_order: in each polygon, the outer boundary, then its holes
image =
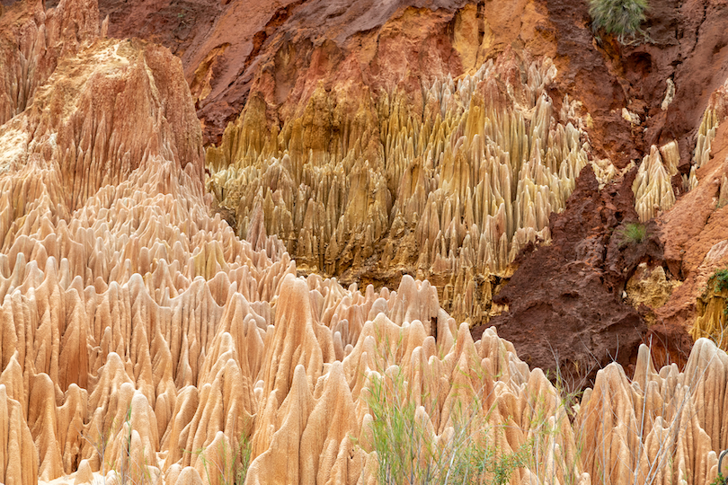
POLYGON ((701 339, 682 373, 674 364, 658 373, 645 346, 631 384, 616 364, 599 371, 576 421, 584 430, 584 465, 592 481, 625 483, 635 476, 653 483, 672 483, 675 477, 684 483, 712 480, 716 450, 728 445, 722 433, 715 434, 728 410, 726 363, 722 350, 701 339), (709 410, 700 404, 706 399, 715 403, 709 410), (605 458, 612 463, 608 468, 605 458))

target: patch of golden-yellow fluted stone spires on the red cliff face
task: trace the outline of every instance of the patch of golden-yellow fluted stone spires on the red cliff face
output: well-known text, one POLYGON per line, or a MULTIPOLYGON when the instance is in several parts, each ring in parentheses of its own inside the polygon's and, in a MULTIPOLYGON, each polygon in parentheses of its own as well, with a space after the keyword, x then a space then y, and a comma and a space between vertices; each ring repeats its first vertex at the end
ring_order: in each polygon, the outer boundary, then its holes
POLYGON ((398 93, 360 96, 342 127, 357 95, 329 106, 317 88, 280 134, 258 130, 249 108, 209 148, 209 187, 241 237, 276 234, 302 269, 379 285, 430 278, 448 311, 481 322, 493 284, 524 244, 548 241, 548 214, 587 163, 578 103, 557 113, 546 95, 554 76, 547 59, 504 55, 436 81, 423 114, 398 93))

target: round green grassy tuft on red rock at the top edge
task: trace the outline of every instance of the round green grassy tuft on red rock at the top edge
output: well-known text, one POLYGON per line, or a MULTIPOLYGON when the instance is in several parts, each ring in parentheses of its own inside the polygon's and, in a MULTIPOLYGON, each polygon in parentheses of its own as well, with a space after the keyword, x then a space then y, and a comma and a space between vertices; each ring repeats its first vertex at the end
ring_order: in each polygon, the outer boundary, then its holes
POLYGON ((592 30, 615 34, 621 44, 634 42, 646 37, 640 28, 646 9, 647 0, 589 0, 592 30))

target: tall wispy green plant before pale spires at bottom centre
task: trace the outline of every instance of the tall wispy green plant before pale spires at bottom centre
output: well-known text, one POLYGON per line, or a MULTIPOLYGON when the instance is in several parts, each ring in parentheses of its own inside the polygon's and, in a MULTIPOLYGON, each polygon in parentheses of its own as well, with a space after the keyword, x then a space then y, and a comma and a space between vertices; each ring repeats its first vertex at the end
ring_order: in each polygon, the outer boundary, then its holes
MULTIPOLYGON (((402 349, 402 335, 392 341, 377 331, 376 340, 379 371, 367 377, 362 397, 373 418, 365 446, 377 452, 380 485, 503 485, 509 482, 512 472, 528 466, 533 440, 512 453, 502 451, 499 444, 505 439, 505 425, 488 424, 496 404, 484 408, 483 388, 463 390, 464 396, 469 396, 467 402, 454 402, 447 437, 437 436, 429 418, 434 410, 415 403, 404 371, 391 364, 402 349)), ((478 371, 472 368, 460 372, 477 375, 478 371)), ((483 378, 481 375, 479 380, 483 378)))

